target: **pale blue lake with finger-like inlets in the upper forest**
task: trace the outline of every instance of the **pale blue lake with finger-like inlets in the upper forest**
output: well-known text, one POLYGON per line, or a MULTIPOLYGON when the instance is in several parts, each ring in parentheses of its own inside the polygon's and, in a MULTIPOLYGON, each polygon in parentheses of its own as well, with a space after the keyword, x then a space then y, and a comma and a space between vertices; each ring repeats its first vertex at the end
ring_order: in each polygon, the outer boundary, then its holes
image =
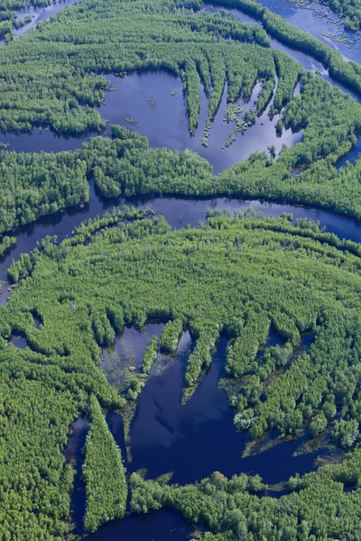
MULTIPOLYGON (((236 140, 225 148, 227 139, 235 125, 225 121, 227 109, 227 85, 225 85, 218 112, 211 123, 208 147, 202 144, 208 116, 208 98, 201 88, 198 128, 190 136, 188 118, 184 104, 182 84, 179 78, 166 71, 134 72, 125 78, 107 76, 116 90, 106 93, 106 103, 101 105, 101 115, 110 124, 120 124, 127 129, 145 135, 152 148, 167 147, 177 151, 195 151, 208 160, 217 174, 241 160, 246 160, 253 151, 267 151, 274 145, 279 152, 283 144, 292 146, 302 140, 303 131, 292 133, 284 130, 276 133, 275 124, 280 115, 267 114, 256 117, 255 124, 244 134, 237 133, 236 140)), ((237 104, 243 114, 254 107, 261 86, 255 85, 248 100, 240 99, 237 104)))

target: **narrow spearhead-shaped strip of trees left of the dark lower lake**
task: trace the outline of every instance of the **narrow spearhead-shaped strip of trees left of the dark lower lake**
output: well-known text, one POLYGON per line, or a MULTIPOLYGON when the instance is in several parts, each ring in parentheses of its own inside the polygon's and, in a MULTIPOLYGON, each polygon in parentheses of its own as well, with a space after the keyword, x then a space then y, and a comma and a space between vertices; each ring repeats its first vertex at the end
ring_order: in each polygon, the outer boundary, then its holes
POLYGON ((87 491, 84 531, 94 532, 125 515, 127 486, 120 449, 106 425, 99 403, 90 397, 90 426, 86 442, 83 478, 87 491))

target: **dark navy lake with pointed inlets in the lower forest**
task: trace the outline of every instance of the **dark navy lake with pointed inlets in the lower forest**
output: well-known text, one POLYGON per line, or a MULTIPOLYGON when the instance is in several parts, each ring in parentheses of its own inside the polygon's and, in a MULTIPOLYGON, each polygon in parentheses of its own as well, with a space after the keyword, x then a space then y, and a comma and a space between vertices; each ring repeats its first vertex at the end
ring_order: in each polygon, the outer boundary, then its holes
MULTIPOLYGON (((224 375, 225 337, 219 340, 210 368, 197 390, 186 404, 181 403, 184 373, 193 347, 190 335, 184 334, 169 367, 160 373, 156 365, 153 367, 131 426, 133 459, 128 470, 145 468, 147 477, 152 479, 173 472, 171 482, 180 484, 200 481, 215 471, 227 477, 241 472, 258 473, 264 482, 276 484, 287 481, 296 472, 313 470, 317 453, 292 456, 300 440, 242 458, 247 432, 236 431, 235 410, 228 403, 226 391, 218 388, 218 381, 224 375)), ((112 415, 109 427, 116 443, 124 448, 122 419, 112 415)))

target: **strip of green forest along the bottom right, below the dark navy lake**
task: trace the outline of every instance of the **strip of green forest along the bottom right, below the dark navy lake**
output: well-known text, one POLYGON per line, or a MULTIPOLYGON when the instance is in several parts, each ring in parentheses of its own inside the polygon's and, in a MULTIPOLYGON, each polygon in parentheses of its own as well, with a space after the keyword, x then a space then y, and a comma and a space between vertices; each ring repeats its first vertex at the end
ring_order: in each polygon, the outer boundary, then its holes
POLYGON ((214 472, 198 484, 184 487, 143 481, 133 473, 131 506, 136 512, 162 506, 177 509, 192 523, 210 530, 202 537, 207 541, 359 541, 360 472, 357 450, 341 464, 322 466, 301 479, 291 478, 291 493, 279 499, 255 495, 264 485, 259 477, 245 473, 227 480, 214 472))

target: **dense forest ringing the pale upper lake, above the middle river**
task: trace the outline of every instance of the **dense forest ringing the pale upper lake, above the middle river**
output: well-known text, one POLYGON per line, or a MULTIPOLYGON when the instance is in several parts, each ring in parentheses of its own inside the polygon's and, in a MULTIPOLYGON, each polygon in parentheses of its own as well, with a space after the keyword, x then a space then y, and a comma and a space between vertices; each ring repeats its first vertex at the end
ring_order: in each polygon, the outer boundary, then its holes
MULTIPOLYGON (((241 7, 251 10, 254 4, 242 0, 241 7)), ((259 16, 271 16, 256 6, 261 10, 259 16)), ((291 39, 288 26, 284 32, 291 39)), ((300 45, 296 41, 294 44, 300 45)), ((210 122, 226 82, 231 103, 239 96, 247 99, 255 84, 261 82, 255 115, 268 105, 271 115, 282 114, 278 131, 304 130, 302 142, 292 149, 284 147, 276 160, 255 152, 218 177, 196 154, 150 150, 145 138, 116 126, 113 141, 95 138, 79 151, 1 151, 0 233, 64 207, 87 203, 91 177, 106 197, 264 197, 323 206, 359 217, 358 161, 354 167, 340 170, 335 164, 356 141, 361 106, 318 76, 303 73, 297 62, 267 45, 262 28, 240 23, 225 13, 180 10, 171 0, 165 4, 154 1, 146 10, 142 2, 113 0, 105 5, 101 0, 86 0, 51 22, 41 23, 38 32, 0 50, 3 128, 50 124, 60 132, 100 129, 105 121, 93 106, 104 100, 108 83, 94 71, 123 73, 138 68, 168 69, 183 80, 190 132, 198 124, 200 85, 208 96, 210 122), (134 17, 136 31, 131 23, 134 17), (109 25, 109 32, 99 33, 98 18, 109 25), (156 40, 154 25, 158 29, 156 40), (140 33, 142 41, 134 48, 140 33), (46 62, 42 61, 43 54, 46 62), (67 61, 60 68, 64 55, 67 61), (301 94, 294 95, 299 80, 301 94)))

